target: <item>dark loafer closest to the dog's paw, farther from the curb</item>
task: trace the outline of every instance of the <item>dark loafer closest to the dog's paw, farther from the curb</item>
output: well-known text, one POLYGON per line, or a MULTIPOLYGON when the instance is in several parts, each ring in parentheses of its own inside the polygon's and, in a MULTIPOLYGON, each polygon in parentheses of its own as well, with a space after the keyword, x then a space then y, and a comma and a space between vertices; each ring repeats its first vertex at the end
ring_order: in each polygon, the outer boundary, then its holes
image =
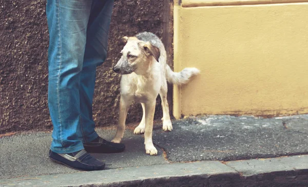
POLYGON ((125 149, 123 143, 112 143, 101 137, 83 145, 89 153, 120 153, 125 149))

